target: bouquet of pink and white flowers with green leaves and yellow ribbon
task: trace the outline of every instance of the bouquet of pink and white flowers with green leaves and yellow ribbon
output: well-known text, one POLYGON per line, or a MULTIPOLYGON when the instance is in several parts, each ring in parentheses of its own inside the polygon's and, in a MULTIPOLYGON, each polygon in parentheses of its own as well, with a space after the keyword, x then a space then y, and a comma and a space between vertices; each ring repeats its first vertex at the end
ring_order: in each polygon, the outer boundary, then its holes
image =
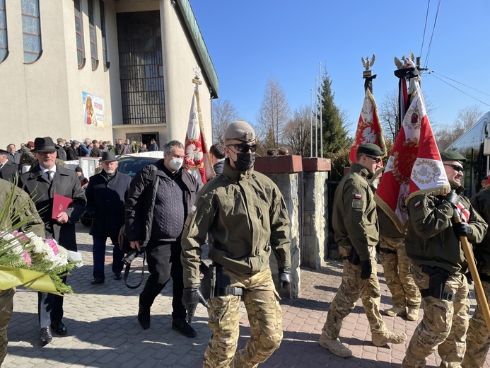
POLYGON ((43 234, 44 226, 27 193, 19 192, 22 191, 15 185, 6 197, 1 192, 0 290, 22 285, 59 295, 73 292, 62 282, 62 277, 81 267, 81 254, 67 251, 53 239, 44 239, 30 231, 43 234))

